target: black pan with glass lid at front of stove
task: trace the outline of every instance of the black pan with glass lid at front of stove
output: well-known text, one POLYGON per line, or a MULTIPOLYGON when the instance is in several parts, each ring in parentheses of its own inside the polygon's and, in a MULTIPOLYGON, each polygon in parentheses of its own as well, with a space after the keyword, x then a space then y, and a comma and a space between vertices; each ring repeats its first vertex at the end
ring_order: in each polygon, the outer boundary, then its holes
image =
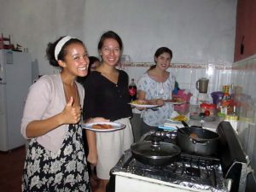
POLYGON ((160 142, 156 137, 153 141, 131 144, 131 153, 135 159, 150 166, 166 166, 179 158, 181 149, 172 143, 160 142))

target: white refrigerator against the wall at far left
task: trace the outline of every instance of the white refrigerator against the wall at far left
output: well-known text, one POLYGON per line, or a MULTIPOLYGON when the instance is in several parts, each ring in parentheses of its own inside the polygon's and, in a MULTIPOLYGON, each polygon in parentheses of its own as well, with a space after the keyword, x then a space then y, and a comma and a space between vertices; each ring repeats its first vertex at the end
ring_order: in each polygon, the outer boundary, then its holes
POLYGON ((20 124, 31 84, 31 55, 0 49, 0 151, 26 143, 20 134, 20 124))

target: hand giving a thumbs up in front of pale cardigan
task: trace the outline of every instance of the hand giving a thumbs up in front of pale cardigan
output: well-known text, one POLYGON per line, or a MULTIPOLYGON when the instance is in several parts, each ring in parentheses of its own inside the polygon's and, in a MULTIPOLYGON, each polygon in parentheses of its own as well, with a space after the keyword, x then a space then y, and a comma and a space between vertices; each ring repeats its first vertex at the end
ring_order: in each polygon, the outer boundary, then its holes
POLYGON ((76 124, 81 118, 82 108, 80 106, 73 106, 73 96, 70 97, 64 110, 62 111, 63 124, 76 124))

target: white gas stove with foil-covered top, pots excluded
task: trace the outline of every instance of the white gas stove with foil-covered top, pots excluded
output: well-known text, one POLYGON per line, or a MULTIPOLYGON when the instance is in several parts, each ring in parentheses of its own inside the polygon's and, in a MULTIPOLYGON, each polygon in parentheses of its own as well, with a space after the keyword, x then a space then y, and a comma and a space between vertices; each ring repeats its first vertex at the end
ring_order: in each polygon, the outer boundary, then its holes
MULTIPOLYGON (((218 125, 221 150, 217 154, 201 156, 182 152, 180 158, 168 166, 145 165, 136 160, 129 149, 111 170, 110 181, 113 182, 113 176, 116 177, 116 190, 108 191, 244 191, 247 160, 236 133, 234 135, 232 131, 234 130, 228 122, 218 125), (145 190, 136 190, 136 185, 141 187, 143 184, 145 190)), ((175 131, 148 132, 141 141, 151 141, 152 137, 160 137, 162 142, 176 144, 175 131)))

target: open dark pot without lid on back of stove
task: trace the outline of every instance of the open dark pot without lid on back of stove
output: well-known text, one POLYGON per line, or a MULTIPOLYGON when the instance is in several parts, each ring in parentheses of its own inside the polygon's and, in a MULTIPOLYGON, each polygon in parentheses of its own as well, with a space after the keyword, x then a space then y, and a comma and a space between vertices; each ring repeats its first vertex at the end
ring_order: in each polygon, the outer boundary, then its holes
POLYGON ((183 152, 209 156, 217 153, 218 133, 203 129, 201 126, 185 125, 177 129, 177 144, 183 152))

